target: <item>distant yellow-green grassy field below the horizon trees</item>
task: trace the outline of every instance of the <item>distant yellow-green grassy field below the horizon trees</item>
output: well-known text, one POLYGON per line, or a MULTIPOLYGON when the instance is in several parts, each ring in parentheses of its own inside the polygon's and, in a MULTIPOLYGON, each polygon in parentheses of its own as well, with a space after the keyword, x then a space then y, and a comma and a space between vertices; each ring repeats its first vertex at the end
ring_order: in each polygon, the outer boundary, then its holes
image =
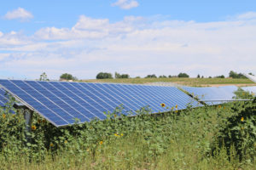
POLYGON ((256 83, 249 79, 232 78, 119 78, 119 79, 93 79, 83 80, 83 82, 117 82, 117 83, 136 83, 144 84, 150 82, 174 82, 186 86, 212 86, 212 85, 237 85, 237 86, 256 86, 256 83))

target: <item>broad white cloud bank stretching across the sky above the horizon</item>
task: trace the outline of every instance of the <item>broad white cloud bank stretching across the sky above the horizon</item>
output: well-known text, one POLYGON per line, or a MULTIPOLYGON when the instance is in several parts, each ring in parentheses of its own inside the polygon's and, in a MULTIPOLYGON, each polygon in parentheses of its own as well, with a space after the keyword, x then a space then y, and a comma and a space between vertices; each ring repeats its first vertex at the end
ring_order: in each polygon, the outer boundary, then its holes
POLYGON ((71 28, 42 28, 32 37, 0 31, 0 72, 38 78, 46 71, 56 79, 63 72, 95 78, 100 71, 131 77, 256 74, 255 30, 255 20, 245 18, 197 23, 127 16, 111 23, 81 15, 71 28))

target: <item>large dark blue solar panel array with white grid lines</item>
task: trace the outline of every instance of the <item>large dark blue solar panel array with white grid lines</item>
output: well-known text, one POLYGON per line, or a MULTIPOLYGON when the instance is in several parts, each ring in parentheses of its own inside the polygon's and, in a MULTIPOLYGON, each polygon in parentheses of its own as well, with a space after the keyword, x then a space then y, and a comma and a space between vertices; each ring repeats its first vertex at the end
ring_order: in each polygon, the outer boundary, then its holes
POLYGON ((94 118, 107 118, 104 112, 113 112, 123 105, 123 114, 148 106, 152 113, 170 111, 177 105, 183 110, 187 105, 201 106, 195 99, 173 87, 88 83, 88 82, 38 82, 0 80, 0 84, 21 103, 37 111, 56 127, 94 118), (161 107, 161 103, 169 108, 161 107))

